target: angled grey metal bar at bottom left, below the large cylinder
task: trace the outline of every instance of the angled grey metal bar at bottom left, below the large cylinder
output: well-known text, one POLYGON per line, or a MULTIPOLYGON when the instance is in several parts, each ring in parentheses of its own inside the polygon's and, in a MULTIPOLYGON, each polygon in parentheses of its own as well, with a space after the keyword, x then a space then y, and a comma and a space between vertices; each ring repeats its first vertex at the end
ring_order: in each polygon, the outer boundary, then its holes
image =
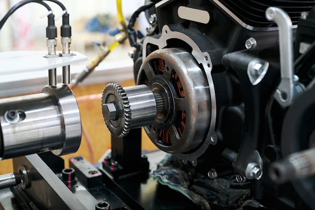
POLYGON ((28 170, 30 187, 17 186, 15 190, 23 192, 37 207, 30 209, 95 209, 98 203, 80 183, 71 191, 37 154, 14 158, 13 165, 16 172, 20 166, 28 170))

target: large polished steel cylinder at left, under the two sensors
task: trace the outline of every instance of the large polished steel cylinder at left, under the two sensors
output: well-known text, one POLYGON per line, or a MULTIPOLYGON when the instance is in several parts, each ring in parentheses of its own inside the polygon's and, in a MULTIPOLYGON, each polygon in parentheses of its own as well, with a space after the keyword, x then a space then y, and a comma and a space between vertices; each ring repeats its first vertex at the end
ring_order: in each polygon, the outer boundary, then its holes
POLYGON ((81 143, 80 111, 65 84, 46 86, 38 94, 0 99, 0 124, 0 159, 45 151, 70 154, 81 143))

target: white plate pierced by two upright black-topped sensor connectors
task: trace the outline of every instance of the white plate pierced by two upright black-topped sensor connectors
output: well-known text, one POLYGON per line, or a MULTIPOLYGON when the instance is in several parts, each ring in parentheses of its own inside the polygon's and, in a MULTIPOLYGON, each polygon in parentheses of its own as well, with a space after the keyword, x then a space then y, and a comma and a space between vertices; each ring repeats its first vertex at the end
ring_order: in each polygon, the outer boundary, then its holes
MULTIPOLYGON (((57 54, 61 52, 56 52, 57 54)), ((0 52, 0 74, 13 74, 30 71, 41 71, 67 66, 88 60, 88 57, 71 52, 69 57, 46 58, 47 51, 11 51, 0 52)))

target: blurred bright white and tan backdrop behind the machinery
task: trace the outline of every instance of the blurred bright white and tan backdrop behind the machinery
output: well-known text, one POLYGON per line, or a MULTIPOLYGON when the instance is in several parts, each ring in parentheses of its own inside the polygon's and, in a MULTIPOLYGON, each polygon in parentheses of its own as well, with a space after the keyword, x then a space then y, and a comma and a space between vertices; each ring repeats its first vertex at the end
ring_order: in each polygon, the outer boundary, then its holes
MULTIPOLYGON (((18 0, 0 0, 0 20, 7 14, 18 0)), ((71 65, 71 73, 81 72, 84 67, 100 52, 99 43, 107 46, 113 41, 113 33, 119 27, 116 1, 114 0, 61 0, 70 15, 72 28, 71 51, 80 52, 88 57, 87 62, 71 65)), ((46 2, 58 16, 61 9, 50 2, 46 2)), ((123 0, 122 10, 128 18, 144 4, 144 0, 123 0)), ((0 67, 1 53, 8 51, 47 51, 46 26, 47 18, 40 18, 47 10, 35 3, 19 8, 0 30, 0 67)), ((61 50, 60 26, 62 18, 55 20, 58 28, 57 50, 61 50)), ((148 23, 144 14, 139 16, 136 27, 145 34, 148 23)), ((120 82, 122 86, 134 85, 133 61, 128 52, 133 50, 128 40, 112 51, 95 69, 90 76, 73 89, 76 97, 91 94, 100 94, 109 82, 120 82)), ((23 65, 21 63, 21 65, 23 65)), ((9 97, 22 94, 38 93, 47 84, 48 71, 34 71, 17 74, 12 72, 3 75, 0 68, 0 97, 9 97)), ((57 69, 61 75, 61 70, 57 69)), ((111 135, 104 123, 101 109, 101 100, 86 100, 78 102, 81 112, 83 129, 87 135, 82 137, 81 147, 69 157, 83 155, 90 162, 95 163, 110 149, 111 135)), ((156 149, 146 135, 142 140, 142 149, 150 151, 156 149)), ((12 172, 12 160, 0 161, 0 174, 12 172)))

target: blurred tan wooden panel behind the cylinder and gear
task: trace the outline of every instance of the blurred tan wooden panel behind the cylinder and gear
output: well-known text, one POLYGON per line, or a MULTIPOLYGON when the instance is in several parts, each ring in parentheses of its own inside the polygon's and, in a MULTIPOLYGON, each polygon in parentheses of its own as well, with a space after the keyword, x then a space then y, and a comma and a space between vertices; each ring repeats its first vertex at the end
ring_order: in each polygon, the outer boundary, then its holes
MULTIPOLYGON (((120 82, 123 87, 134 85, 133 80, 120 82)), ((104 84, 95 84, 89 86, 79 86, 73 89, 73 93, 76 97, 99 94, 103 92, 104 84)), ((103 115, 101 100, 92 100, 78 103, 83 129, 85 129, 91 139, 92 151, 94 155, 94 162, 97 162, 103 154, 111 147, 111 134, 108 131, 103 115)), ((143 150, 155 150, 155 145, 147 138, 146 134, 142 131, 142 149, 143 150)), ((82 155, 90 162, 92 161, 92 155, 88 148, 87 140, 83 136, 81 146, 74 154, 62 156, 65 159, 66 167, 68 167, 68 158, 73 156, 82 155)), ((0 174, 13 172, 12 159, 0 161, 0 174)))

